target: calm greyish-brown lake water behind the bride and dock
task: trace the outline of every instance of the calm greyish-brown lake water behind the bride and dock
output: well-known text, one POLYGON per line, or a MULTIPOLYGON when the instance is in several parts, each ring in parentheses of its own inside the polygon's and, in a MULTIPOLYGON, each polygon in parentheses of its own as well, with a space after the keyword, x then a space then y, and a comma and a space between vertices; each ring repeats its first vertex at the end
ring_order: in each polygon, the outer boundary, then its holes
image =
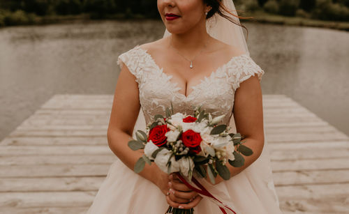
MULTIPOLYGON (((349 33, 244 23, 264 94, 285 94, 349 135, 349 33)), ((163 36, 161 21, 0 29, 0 139, 57 93, 113 94, 117 56, 163 36)))

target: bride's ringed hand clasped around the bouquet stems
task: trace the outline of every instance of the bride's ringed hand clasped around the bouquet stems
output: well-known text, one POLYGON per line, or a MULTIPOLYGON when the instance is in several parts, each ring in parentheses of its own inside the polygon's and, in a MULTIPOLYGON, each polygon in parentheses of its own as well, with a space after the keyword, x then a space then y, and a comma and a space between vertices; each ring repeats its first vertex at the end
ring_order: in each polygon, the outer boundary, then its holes
POLYGON ((202 197, 182 183, 176 174, 169 175, 170 194, 166 196, 168 204, 174 208, 190 209, 199 204, 202 197))

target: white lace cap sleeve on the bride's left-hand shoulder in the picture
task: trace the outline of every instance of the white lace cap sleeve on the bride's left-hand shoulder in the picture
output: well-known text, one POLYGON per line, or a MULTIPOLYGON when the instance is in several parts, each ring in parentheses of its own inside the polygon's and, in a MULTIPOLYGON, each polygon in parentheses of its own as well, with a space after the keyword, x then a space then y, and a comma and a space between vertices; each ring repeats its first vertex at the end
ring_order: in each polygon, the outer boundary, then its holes
POLYGON ((140 83, 141 81, 141 68, 139 66, 140 54, 137 49, 130 49, 128 52, 124 52, 117 57, 117 64, 122 69, 126 66, 128 70, 135 76, 135 81, 140 83))

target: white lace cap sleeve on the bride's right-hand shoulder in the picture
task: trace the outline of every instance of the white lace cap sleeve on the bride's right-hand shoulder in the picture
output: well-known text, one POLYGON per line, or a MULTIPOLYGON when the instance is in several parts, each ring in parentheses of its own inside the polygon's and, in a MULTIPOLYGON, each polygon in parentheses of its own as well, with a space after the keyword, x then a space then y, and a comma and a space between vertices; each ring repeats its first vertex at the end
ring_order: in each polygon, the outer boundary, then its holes
POLYGON ((265 74, 265 71, 258 66, 251 56, 245 55, 237 61, 237 65, 234 66, 234 70, 230 73, 232 75, 232 87, 236 91, 240 84, 246 79, 257 76, 258 80, 262 80, 262 75, 265 74))

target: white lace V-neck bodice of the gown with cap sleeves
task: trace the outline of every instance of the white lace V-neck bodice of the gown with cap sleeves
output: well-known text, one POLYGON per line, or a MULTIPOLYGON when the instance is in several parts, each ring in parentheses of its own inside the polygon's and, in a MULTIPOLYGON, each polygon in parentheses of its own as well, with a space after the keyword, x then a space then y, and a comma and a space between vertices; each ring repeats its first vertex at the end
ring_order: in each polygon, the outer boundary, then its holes
POLYGON ((248 54, 232 56, 209 77, 201 79, 200 84, 192 86, 193 91, 186 96, 179 93, 177 83, 170 81, 172 75, 163 72, 163 68, 159 68, 147 50, 139 45, 120 54, 117 63, 121 68, 126 65, 138 82, 140 105, 147 124, 155 114, 165 115, 165 109, 172 101, 174 113, 191 114, 193 105, 202 105, 212 116, 225 114, 223 123, 228 125, 240 83, 253 75, 261 80, 265 73, 248 54))

